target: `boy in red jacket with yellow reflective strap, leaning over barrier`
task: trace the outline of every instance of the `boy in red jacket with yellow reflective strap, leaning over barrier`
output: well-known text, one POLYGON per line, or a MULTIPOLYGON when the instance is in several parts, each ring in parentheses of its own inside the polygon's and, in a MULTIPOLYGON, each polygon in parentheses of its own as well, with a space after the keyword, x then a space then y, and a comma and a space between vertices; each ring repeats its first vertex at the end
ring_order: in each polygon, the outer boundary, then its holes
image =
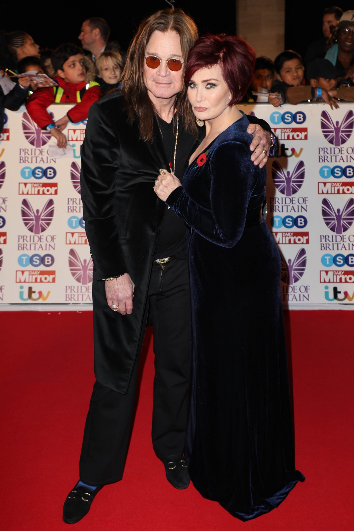
POLYGON ((67 140, 63 134, 68 122, 77 123, 86 119, 89 108, 102 93, 99 83, 85 81, 82 49, 74 44, 63 44, 51 55, 51 64, 57 73, 55 81, 58 87, 41 88, 33 92, 27 100, 28 114, 41 127, 46 129, 58 141, 58 148, 65 148, 67 140), (63 118, 55 123, 47 112, 53 103, 76 103, 63 118))

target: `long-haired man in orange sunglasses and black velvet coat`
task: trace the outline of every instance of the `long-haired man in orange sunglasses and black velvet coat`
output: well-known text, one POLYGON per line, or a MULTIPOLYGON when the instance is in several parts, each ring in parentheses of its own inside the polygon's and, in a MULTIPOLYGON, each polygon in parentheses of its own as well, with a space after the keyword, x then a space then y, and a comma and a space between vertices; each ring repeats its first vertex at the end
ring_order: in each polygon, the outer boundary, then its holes
MULTIPOLYGON (((80 482, 64 503, 66 523, 79 521, 99 489, 122 478, 147 324, 153 326, 155 355, 153 448, 168 481, 177 489, 189 484, 183 457, 190 337, 186 227, 156 199, 153 185, 167 164, 182 179, 189 155, 205 135, 183 83, 197 37, 195 23, 182 10, 151 15, 128 50, 123 95, 110 93, 90 110, 81 196, 94 262, 97 381, 85 424, 80 482)), ((269 134, 256 125, 249 132, 254 133, 250 156, 263 166, 269 134)))

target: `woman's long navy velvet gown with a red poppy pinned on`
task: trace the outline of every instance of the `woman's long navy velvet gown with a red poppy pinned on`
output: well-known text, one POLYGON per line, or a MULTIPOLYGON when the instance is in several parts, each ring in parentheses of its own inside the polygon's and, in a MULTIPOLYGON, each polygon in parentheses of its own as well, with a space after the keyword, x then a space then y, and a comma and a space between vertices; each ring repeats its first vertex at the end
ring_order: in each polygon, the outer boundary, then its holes
POLYGON ((280 255, 260 213, 245 115, 186 170, 166 203, 191 227, 192 379, 186 459, 196 489, 231 515, 269 512, 295 469, 280 255))

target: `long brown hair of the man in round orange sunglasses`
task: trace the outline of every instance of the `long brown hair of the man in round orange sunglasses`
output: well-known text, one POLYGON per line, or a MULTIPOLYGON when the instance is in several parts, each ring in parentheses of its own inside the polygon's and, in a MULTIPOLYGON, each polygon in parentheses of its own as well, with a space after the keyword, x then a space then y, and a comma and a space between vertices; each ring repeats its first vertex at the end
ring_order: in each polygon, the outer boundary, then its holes
MULTIPOLYGON (((188 52, 198 38, 198 30, 194 21, 181 9, 163 9, 140 24, 129 46, 121 79, 129 122, 139 123, 140 136, 144 141, 153 140, 153 117, 156 113, 143 80, 145 50, 154 31, 166 33, 168 30, 176 31, 180 37, 184 73, 188 52)), ((183 119, 185 129, 195 134, 195 117, 184 84, 177 95, 175 107, 183 119)))

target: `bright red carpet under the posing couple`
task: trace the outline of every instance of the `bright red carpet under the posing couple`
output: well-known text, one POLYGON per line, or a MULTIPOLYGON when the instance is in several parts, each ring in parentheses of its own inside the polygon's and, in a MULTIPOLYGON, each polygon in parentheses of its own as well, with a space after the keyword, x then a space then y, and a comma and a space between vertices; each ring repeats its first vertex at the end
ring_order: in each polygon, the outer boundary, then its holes
MULTIPOLYGON (((2 312, 4 531, 68 529, 92 372, 91 312, 2 312)), ((98 493, 77 531, 353 529, 351 311, 286 312, 296 466, 306 476, 278 509, 242 523, 191 484, 178 491, 152 450, 153 353, 146 335, 140 399, 122 482, 98 493)))

